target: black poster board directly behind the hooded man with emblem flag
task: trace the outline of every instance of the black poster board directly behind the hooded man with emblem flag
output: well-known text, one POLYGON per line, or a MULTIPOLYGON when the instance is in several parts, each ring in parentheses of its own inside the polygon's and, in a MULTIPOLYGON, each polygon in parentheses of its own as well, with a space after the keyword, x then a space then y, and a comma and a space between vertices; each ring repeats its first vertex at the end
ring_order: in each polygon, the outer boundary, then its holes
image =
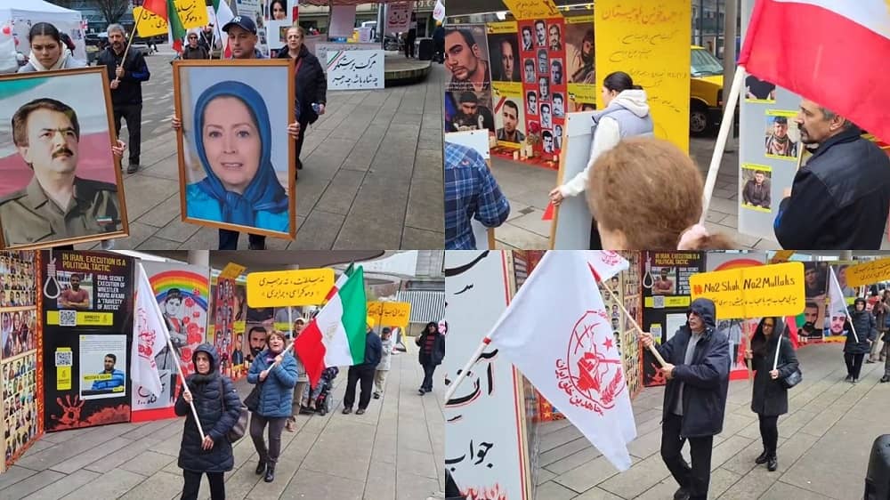
MULTIPOLYGON (((689 278, 705 271, 702 252, 649 252, 641 258, 643 286, 643 330, 656 343, 666 343, 686 324, 686 312, 692 303, 689 278)), ((664 385, 659 362, 649 350, 643 350, 643 385, 664 385)))

